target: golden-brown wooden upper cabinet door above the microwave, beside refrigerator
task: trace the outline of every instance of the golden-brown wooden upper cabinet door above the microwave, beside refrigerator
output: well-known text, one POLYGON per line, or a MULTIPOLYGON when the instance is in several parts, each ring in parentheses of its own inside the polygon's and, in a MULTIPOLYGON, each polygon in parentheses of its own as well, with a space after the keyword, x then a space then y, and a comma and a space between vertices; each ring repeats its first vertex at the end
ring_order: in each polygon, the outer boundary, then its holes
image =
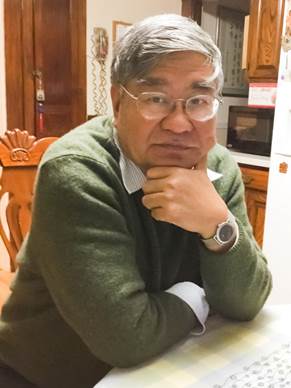
POLYGON ((277 82, 284 0, 251 0, 247 73, 250 82, 277 82))

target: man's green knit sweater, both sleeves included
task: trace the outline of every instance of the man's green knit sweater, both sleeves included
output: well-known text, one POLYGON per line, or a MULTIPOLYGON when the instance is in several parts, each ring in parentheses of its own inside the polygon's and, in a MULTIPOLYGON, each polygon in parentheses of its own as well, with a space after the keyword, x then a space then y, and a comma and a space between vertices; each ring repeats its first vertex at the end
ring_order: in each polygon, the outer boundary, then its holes
POLYGON ((256 244, 239 168, 215 146, 208 167, 236 216, 239 241, 208 251, 195 233, 151 218, 142 192, 122 183, 111 121, 93 119, 46 152, 37 178, 30 234, 0 322, 0 359, 41 388, 91 388, 110 366, 160 354, 197 324, 165 292, 202 286, 212 310, 252 319, 271 276, 256 244))

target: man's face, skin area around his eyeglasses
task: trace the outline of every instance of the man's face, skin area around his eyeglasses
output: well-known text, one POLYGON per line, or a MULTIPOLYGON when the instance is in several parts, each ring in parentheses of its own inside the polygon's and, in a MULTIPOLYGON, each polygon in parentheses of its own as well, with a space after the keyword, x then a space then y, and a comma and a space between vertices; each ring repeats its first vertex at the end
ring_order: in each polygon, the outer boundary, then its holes
MULTIPOLYGON (((162 58, 142 80, 124 85, 138 96, 142 92, 165 93, 173 99, 187 99, 198 94, 215 94, 209 83, 212 65, 194 52, 178 52, 162 58)), ((211 86, 211 84, 210 84, 211 86)), ((213 86, 213 83, 212 83, 213 86)), ((119 86, 112 86, 114 123, 125 155, 143 171, 155 166, 191 168, 215 144, 216 118, 190 119, 181 103, 162 119, 146 119, 136 101, 119 86)))

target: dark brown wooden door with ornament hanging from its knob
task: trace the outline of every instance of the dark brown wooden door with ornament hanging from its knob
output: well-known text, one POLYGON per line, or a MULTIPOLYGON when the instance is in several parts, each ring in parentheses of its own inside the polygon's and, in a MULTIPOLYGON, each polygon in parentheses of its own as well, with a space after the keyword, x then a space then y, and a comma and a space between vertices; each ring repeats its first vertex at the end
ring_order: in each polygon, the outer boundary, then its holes
POLYGON ((61 136, 86 120, 86 1, 5 0, 7 127, 61 136), (37 101, 39 77, 44 101, 37 101))

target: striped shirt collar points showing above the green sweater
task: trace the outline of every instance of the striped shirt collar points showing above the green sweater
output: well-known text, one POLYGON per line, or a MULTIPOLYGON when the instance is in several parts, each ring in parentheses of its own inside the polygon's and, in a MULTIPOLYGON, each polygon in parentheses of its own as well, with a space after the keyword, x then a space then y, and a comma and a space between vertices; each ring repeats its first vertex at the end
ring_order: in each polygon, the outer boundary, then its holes
MULTIPOLYGON (((119 166, 121 171, 122 182, 128 194, 135 193, 140 190, 146 182, 146 176, 142 170, 130 159, 128 159, 120 147, 116 129, 113 131, 113 139, 116 147, 120 152, 119 166)), ((207 169, 208 178, 211 182, 222 177, 222 174, 213 170, 207 169)))

